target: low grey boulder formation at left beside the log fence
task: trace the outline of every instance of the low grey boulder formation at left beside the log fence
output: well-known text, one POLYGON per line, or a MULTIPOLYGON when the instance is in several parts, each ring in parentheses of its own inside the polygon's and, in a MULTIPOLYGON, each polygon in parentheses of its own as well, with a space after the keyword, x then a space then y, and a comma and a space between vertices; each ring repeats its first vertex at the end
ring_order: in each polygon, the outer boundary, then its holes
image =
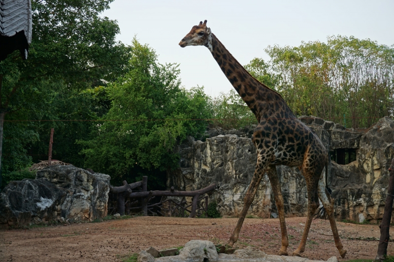
POLYGON ((36 179, 10 182, 0 194, 0 226, 84 222, 107 215, 109 175, 48 166, 36 179))

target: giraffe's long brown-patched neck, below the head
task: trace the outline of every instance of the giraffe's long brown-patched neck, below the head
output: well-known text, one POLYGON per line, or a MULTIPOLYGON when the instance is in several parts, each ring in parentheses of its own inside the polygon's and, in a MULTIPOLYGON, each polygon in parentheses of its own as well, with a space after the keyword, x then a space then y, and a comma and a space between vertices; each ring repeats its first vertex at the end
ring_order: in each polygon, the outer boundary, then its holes
POLYGON ((282 96, 252 77, 213 33, 206 47, 259 122, 261 118, 295 117, 282 96))

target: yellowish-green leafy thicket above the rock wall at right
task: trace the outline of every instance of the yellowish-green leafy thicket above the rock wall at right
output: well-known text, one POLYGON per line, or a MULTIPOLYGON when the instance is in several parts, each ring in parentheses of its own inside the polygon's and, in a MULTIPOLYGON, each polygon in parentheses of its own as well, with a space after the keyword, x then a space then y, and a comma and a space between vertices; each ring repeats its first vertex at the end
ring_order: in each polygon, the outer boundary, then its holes
POLYGON ((357 128, 394 113, 394 46, 337 36, 266 51, 275 89, 298 116, 344 124, 345 115, 357 128))

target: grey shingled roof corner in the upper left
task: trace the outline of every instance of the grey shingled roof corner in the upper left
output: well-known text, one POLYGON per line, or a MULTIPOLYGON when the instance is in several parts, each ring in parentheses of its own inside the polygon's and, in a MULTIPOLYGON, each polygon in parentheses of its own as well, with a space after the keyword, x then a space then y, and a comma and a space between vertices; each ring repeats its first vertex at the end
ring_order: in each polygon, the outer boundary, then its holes
POLYGON ((0 0, 0 61, 15 50, 28 57, 32 42, 32 3, 30 0, 0 0))

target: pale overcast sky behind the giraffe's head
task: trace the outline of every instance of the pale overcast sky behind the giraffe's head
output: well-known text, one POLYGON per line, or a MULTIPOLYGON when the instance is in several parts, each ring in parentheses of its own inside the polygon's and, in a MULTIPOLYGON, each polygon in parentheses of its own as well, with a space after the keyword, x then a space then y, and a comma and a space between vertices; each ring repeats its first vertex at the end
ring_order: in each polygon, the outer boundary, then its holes
POLYGON ((211 96, 233 87, 206 47, 178 45, 205 19, 242 65, 267 60, 269 45, 327 42, 331 35, 394 44, 393 0, 115 0, 110 7, 103 16, 118 21, 119 41, 131 44, 136 35, 161 63, 180 64, 182 86, 204 86, 211 96))

